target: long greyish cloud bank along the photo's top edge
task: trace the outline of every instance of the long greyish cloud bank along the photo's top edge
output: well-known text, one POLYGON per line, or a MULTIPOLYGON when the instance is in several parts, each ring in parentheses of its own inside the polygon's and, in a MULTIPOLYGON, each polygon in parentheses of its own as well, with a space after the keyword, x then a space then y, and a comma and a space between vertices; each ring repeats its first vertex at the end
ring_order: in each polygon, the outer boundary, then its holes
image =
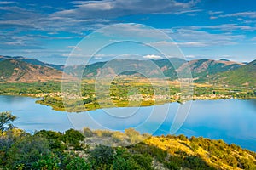
MULTIPOLYGON (((175 14, 192 10, 198 1, 190 0, 186 3, 175 0, 102 0, 102 1, 74 1, 75 8, 62 10, 53 16, 76 18, 116 18, 130 14, 175 14)), ((195 10, 195 9, 194 9, 195 10)), ((190 13, 192 11, 189 11, 190 13)))

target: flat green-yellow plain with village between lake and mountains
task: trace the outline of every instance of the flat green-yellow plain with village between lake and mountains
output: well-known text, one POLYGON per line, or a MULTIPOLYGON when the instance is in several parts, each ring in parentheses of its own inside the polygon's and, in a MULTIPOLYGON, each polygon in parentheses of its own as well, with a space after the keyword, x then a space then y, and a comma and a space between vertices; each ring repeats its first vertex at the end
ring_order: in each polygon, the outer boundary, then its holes
POLYGON ((94 79, 85 79, 81 82, 81 88, 76 87, 78 85, 71 83, 64 93, 61 92, 61 82, 5 82, 1 83, 0 94, 38 97, 42 98, 38 99, 38 104, 50 105, 57 111, 72 112, 161 105, 169 102, 182 103, 187 99, 256 98, 255 88, 192 83, 188 87, 192 90, 191 94, 187 94, 181 91, 180 82, 157 78, 148 80, 145 77, 116 77, 111 82, 101 83, 95 82, 94 79))

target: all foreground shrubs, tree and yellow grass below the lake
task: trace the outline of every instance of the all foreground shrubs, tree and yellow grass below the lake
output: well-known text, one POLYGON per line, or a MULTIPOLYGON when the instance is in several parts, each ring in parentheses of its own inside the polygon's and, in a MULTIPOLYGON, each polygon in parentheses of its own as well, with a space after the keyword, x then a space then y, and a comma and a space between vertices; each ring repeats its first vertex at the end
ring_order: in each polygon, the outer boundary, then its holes
POLYGON ((0 168, 3 169, 255 169, 256 153, 222 140, 152 137, 134 129, 34 134, 12 126, 15 116, 0 113, 0 168), (142 140, 145 139, 145 140, 142 140), (128 146, 103 146, 128 144, 128 146), (132 145, 129 145, 132 144, 132 145))

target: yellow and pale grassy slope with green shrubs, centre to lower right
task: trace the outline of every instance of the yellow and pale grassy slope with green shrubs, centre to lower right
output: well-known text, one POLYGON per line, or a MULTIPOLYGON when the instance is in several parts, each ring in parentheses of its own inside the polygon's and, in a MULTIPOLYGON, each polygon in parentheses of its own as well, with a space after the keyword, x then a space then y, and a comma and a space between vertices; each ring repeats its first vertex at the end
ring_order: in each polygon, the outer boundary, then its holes
POLYGON ((154 160, 156 169, 255 169, 256 153, 241 149, 236 144, 226 144, 223 140, 204 138, 190 139, 180 136, 140 136, 131 129, 125 133, 107 130, 90 131, 84 128, 84 144, 128 144, 132 155, 143 154, 154 160), (89 134, 89 135, 88 135, 89 134), (144 140, 145 139, 145 140, 144 140), (128 142, 128 143, 127 143, 128 142))

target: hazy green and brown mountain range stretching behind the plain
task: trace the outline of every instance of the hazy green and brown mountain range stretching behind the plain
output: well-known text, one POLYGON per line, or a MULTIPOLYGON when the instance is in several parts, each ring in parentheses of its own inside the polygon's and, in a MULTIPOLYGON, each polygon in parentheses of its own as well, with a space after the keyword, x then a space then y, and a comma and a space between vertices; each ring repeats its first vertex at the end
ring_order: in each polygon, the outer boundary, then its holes
POLYGON ((59 81, 62 71, 78 76, 82 72, 84 78, 113 77, 116 75, 143 75, 144 77, 168 77, 177 79, 177 75, 186 77, 189 71, 195 82, 216 82, 233 85, 255 86, 256 60, 250 63, 238 63, 228 59, 113 59, 96 62, 91 65, 54 65, 38 59, 24 57, 0 56, 0 82, 37 82, 59 81), (189 65, 190 70, 186 65, 189 65))

